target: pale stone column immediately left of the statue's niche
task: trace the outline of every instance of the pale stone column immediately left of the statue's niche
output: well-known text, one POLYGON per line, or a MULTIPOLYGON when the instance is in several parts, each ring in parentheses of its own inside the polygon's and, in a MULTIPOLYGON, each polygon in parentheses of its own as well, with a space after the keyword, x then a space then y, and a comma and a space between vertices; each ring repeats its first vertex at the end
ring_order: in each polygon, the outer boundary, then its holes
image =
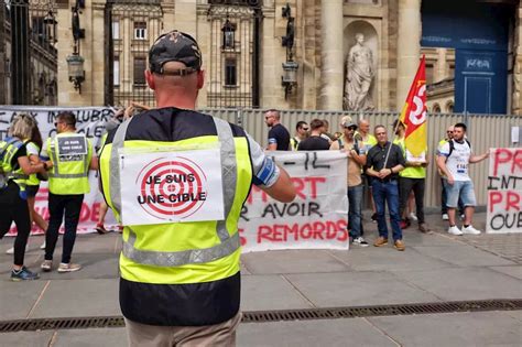
POLYGON ((342 0, 320 2, 320 108, 342 109, 342 0))

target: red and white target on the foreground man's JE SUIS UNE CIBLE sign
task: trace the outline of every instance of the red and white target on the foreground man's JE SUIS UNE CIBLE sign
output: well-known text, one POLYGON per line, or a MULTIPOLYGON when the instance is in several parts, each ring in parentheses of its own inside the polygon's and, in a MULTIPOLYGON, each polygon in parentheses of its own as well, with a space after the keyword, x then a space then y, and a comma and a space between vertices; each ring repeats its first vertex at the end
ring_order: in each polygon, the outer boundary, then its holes
POLYGON ((138 204, 151 216, 170 220, 186 218, 207 200, 207 177, 195 162, 178 156, 161 158, 143 167, 135 180, 140 194, 138 204))

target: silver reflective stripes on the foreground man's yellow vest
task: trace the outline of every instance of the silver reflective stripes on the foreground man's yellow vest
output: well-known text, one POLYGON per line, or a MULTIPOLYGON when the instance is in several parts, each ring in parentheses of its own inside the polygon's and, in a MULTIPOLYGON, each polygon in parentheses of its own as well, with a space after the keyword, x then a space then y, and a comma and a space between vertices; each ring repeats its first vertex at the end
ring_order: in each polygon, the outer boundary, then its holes
MULTIPOLYGON (((206 263, 233 253, 240 247, 239 232, 232 237, 227 230, 227 217, 232 208, 236 184, 237 184, 237 164, 236 164, 236 145, 233 143, 233 135, 230 124, 219 118, 215 118, 217 135, 221 144, 221 175, 224 189, 224 208, 225 219, 218 220, 216 225, 216 232, 221 243, 205 249, 191 249, 176 252, 159 252, 139 250, 134 248, 135 232, 129 227, 129 239, 123 240, 123 256, 132 261, 156 267, 180 267, 188 263, 206 263)), ((123 122, 115 133, 112 139, 112 149, 110 153, 110 199, 116 212, 121 214, 121 182, 120 182, 120 165, 118 160, 118 150, 123 148, 127 128, 132 121, 132 118, 123 122)))

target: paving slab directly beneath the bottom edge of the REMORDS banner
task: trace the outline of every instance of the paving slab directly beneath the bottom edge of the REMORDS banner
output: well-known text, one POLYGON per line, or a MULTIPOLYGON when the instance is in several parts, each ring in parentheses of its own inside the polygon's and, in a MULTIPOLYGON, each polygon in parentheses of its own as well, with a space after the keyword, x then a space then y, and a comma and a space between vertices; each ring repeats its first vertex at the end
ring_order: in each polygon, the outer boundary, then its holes
POLYGON ((338 272, 349 268, 325 250, 282 250, 241 256, 252 274, 338 272))

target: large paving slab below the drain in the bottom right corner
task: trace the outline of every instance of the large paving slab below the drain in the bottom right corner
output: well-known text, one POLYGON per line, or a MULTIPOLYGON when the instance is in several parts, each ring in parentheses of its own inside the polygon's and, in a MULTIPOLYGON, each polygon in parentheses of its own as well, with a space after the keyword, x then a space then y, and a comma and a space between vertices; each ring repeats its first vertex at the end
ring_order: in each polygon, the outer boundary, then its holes
POLYGON ((520 321, 502 312, 371 317, 401 346, 520 346, 520 321))

